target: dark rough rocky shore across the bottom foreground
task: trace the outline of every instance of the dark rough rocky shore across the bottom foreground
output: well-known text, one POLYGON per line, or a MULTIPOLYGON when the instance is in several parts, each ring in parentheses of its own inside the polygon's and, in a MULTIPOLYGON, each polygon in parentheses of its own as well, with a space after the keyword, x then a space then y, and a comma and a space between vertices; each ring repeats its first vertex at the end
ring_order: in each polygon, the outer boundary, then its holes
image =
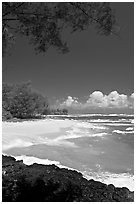
POLYGON ((133 202, 134 192, 55 165, 27 166, 13 157, 2 156, 3 202, 133 202))

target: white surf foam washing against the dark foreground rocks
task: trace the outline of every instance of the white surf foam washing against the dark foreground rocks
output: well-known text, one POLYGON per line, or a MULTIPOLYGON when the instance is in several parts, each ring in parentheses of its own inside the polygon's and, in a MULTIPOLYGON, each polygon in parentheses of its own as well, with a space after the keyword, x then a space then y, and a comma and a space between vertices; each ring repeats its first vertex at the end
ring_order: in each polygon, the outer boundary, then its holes
MULTIPOLYGON (((52 165, 55 164, 59 168, 66 168, 70 170, 76 170, 79 172, 77 169, 74 168, 69 168, 67 166, 61 165, 59 161, 51 161, 48 159, 39 159, 33 156, 16 156, 15 159, 18 160, 23 160, 23 163, 26 165, 32 165, 34 163, 37 164, 43 164, 43 165, 52 165)), ((105 184, 113 184, 115 187, 127 187, 129 190, 133 191, 134 190, 134 177, 130 175, 129 173, 122 173, 122 174, 113 174, 110 172, 91 172, 87 173, 86 171, 81 172, 83 174, 83 177, 86 179, 94 179, 96 181, 103 182, 105 184)))

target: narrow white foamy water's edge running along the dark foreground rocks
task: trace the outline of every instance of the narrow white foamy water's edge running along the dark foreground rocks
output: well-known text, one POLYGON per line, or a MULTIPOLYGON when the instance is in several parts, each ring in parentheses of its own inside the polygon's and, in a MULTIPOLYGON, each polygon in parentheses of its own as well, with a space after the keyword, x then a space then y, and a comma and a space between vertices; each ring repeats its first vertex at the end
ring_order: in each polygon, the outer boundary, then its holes
MULTIPOLYGON (((87 175, 85 172, 79 171, 78 169, 75 168, 71 168, 65 165, 62 165, 59 161, 51 161, 49 159, 40 159, 40 158, 36 158, 33 156, 26 156, 26 155, 21 155, 21 156, 13 156, 13 155, 8 155, 5 153, 2 153, 2 155, 4 156, 8 156, 8 157, 13 157, 16 159, 16 161, 23 161, 23 163, 25 165, 33 165, 33 164, 41 164, 41 165, 56 165, 57 167, 59 167, 60 169, 68 169, 68 170, 72 170, 72 171, 76 171, 78 173, 81 173, 83 178, 87 179, 88 181, 90 179, 94 179, 95 181, 98 182, 102 182, 106 185, 114 185, 116 188, 128 188, 131 192, 134 191, 134 186, 131 185, 131 183, 129 184, 129 179, 131 178, 134 181, 134 175, 128 175, 128 173, 122 173, 122 174, 111 174, 110 172, 106 172, 106 178, 100 178, 100 176, 89 176, 87 175), (128 179, 128 180, 127 180, 128 179), (119 184, 119 180, 121 181, 121 183, 119 184), (127 183, 127 185, 125 185, 127 183)), ((101 174, 103 175, 103 172, 101 172, 101 174)))

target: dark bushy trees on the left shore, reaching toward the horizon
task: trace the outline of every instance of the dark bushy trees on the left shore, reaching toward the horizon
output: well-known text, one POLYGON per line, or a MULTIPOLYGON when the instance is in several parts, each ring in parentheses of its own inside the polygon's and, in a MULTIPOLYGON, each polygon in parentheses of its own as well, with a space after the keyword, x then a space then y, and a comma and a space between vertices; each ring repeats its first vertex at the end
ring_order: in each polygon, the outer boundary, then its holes
POLYGON ((49 114, 68 114, 66 109, 51 109, 48 99, 32 90, 31 84, 2 85, 2 119, 41 118, 49 114))

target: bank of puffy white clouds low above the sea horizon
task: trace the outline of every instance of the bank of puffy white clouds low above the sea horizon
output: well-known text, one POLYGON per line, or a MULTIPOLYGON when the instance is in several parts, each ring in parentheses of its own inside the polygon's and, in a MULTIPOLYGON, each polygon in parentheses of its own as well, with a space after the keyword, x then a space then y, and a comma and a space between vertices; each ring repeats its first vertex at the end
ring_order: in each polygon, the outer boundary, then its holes
POLYGON ((134 93, 130 96, 119 94, 117 91, 112 91, 108 95, 104 95, 101 91, 94 91, 88 99, 81 103, 78 98, 68 96, 68 98, 60 104, 61 107, 74 108, 74 109, 87 109, 87 108, 133 108, 134 107, 134 93))

